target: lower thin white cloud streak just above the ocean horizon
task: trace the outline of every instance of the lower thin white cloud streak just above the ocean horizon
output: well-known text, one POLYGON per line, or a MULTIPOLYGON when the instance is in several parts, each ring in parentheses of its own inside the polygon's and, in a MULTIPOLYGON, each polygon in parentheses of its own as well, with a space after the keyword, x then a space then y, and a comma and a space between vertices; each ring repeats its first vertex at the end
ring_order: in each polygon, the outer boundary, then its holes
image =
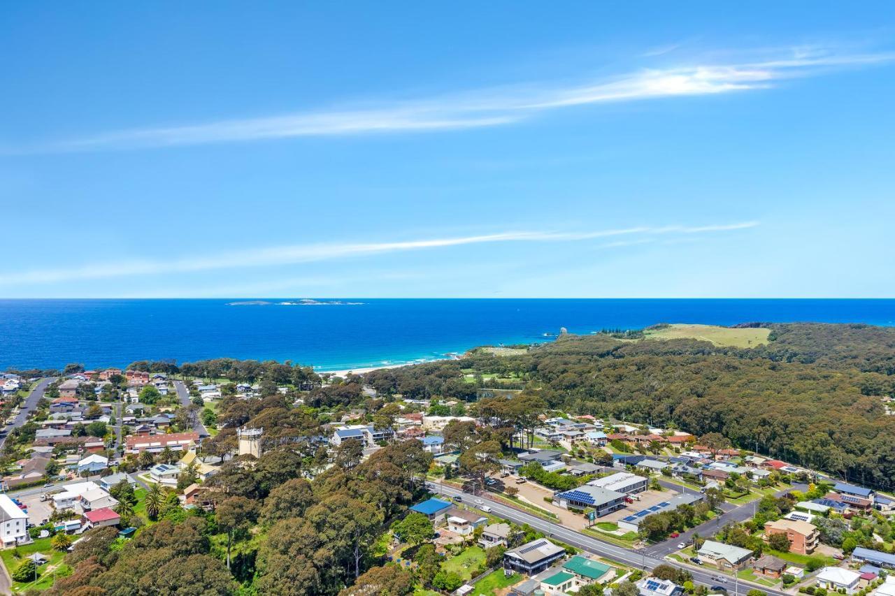
POLYGON ((93 263, 70 268, 12 272, 0 276, 0 287, 52 284, 109 277, 171 275, 215 269, 273 267, 277 265, 369 257, 394 252, 422 251, 466 244, 581 242, 613 236, 646 237, 659 234, 705 234, 741 230, 754 226, 758 226, 758 222, 750 221, 712 226, 637 226, 590 232, 500 232, 497 234, 386 243, 293 244, 246 251, 225 251, 214 255, 183 257, 174 260, 131 260, 118 263, 93 263))

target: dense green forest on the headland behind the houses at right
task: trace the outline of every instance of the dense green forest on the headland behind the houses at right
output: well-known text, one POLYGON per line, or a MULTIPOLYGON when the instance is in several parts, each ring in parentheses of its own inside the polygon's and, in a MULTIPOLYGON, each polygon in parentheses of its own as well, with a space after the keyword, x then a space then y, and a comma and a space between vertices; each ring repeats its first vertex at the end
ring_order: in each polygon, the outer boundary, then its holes
POLYGON ((466 397, 485 385, 524 387, 567 413, 614 416, 696 435, 877 488, 895 486, 895 329, 866 325, 752 324, 771 342, 752 349, 695 340, 561 336, 523 355, 473 351, 367 376, 381 391, 466 397), (507 379, 505 383, 501 379, 507 379), (464 387, 465 386, 465 387, 464 387))

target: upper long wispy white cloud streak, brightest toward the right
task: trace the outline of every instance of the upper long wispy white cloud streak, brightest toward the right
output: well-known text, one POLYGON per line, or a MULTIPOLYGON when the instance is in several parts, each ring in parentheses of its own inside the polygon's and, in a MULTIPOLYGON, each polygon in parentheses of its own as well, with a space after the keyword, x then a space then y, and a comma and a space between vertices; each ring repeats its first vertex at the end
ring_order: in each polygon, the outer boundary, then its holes
POLYGON ((5 153, 138 149, 207 143, 354 135, 436 132, 516 123, 547 110, 605 102, 712 95, 766 89, 777 81, 831 69, 891 62, 891 52, 837 53, 823 47, 763 52, 761 60, 684 64, 643 69, 577 84, 533 84, 474 89, 462 94, 364 109, 331 109, 291 115, 106 132, 31 146, 7 145, 5 153), (772 54, 772 55, 771 55, 772 54))

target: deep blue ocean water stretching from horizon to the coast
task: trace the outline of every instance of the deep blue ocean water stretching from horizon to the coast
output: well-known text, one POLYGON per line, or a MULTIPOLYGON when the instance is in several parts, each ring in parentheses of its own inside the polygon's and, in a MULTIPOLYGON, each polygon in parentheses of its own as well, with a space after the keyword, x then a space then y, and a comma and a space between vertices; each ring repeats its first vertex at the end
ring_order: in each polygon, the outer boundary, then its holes
POLYGON ((895 325, 895 300, 343 300, 362 304, 0 300, 0 370, 225 356, 337 370, 431 360, 476 345, 549 341, 561 327, 587 334, 661 322, 895 325))

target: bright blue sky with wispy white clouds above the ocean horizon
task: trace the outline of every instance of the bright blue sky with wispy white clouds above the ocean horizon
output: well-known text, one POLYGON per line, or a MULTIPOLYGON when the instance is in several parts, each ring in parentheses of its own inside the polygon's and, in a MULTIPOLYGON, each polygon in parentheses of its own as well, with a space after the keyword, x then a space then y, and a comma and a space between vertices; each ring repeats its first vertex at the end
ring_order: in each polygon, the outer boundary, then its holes
POLYGON ((4 9, 4 297, 891 297, 895 4, 4 9))

